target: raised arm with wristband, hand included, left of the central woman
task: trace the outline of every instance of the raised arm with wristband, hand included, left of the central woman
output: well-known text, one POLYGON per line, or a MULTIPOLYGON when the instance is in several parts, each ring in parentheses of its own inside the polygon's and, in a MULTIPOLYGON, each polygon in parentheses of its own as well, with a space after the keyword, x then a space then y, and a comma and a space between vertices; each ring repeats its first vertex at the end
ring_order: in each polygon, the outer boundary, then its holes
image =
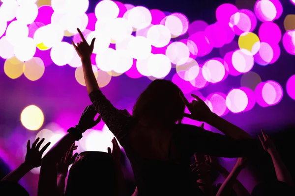
POLYGON ((100 122, 100 118, 94 120, 97 112, 92 105, 85 108, 76 127, 68 129, 63 136, 43 157, 38 183, 38 196, 56 196, 57 189, 57 164, 70 149, 75 141, 82 138, 82 133, 100 122))

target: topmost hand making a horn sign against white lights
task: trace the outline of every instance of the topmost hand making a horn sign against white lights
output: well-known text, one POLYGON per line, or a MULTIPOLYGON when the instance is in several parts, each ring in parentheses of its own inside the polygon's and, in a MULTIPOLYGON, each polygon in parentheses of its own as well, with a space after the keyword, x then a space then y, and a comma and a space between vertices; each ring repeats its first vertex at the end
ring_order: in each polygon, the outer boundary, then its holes
POLYGON ((95 38, 92 39, 91 44, 89 45, 85 37, 83 36, 81 30, 79 28, 77 28, 77 30, 82 38, 82 42, 77 43, 77 45, 75 45, 75 43, 72 41, 72 45, 74 46, 76 52, 78 53, 81 59, 90 58, 92 51, 94 49, 95 38))

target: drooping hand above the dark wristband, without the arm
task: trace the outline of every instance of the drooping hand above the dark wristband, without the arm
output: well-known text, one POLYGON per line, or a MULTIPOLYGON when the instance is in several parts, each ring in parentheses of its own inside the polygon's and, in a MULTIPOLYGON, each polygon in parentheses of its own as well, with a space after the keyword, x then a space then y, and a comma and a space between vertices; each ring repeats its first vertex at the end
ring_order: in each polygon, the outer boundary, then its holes
POLYGON ((87 129, 90 129, 94 127, 96 124, 98 124, 101 120, 100 116, 94 120, 94 117, 96 116, 97 112, 93 105, 89 105, 85 108, 83 111, 80 121, 76 127, 81 130, 82 133, 84 133, 87 129))

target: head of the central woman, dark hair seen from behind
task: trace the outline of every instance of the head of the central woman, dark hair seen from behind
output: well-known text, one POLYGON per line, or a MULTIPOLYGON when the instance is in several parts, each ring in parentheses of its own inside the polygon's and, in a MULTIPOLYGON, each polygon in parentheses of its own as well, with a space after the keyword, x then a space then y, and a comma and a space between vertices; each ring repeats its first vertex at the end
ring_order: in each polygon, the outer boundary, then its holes
POLYGON ((145 123, 171 124, 183 117, 185 105, 176 84, 169 80, 156 79, 138 97, 133 107, 133 117, 145 123))

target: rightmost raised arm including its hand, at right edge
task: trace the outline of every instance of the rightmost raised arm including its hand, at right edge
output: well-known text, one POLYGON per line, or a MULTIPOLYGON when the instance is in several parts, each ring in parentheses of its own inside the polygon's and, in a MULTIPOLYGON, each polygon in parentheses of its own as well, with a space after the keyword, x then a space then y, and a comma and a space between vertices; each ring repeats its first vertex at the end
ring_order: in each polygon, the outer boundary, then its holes
POLYGON ((290 186, 294 186, 290 172, 288 171, 287 167, 282 161, 272 140, 268 137, 268 135, 263 130, 261 130, 261 132, 262 132, 262 136, 260 135, 259 139, 261 141, 263 148, 271 156, 277 179, 279 181, 289 184, 290 186))

